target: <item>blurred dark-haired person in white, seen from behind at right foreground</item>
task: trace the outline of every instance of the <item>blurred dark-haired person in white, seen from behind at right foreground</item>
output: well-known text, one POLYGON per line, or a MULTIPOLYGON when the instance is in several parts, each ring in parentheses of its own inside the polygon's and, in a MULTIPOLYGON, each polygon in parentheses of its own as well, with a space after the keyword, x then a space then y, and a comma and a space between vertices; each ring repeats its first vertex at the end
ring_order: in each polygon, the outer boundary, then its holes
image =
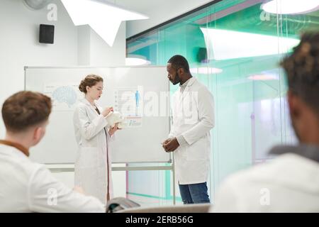
POLYGON ((319 33, 306 33, 281 63, 300 145, 281 145, 278 157, 231 175, 213 212, 319 212, 319 33))

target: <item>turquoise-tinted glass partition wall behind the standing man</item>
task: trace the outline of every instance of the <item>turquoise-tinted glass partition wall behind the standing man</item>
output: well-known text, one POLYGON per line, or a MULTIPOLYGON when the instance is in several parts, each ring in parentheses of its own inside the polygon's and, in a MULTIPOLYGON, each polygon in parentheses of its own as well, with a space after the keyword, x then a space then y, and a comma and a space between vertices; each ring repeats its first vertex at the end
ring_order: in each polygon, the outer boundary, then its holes
MULTIPOLYGON (((212 203, 225 177, 269 160, 273 145, 297 142, 279 62, 303 31, 319 29, 319 11, 269 13, 263 8, 267 2, 213 1, 127 40, 127 55, 146 58, 151 65, 167 65, 173 55, 184 55, 191 74, 213 94, 216 126, 208 179, 212 203)), ((276 4, 279 11, 284 6, 276 4)), ((171 93, 178 88, 171 85, 171 93)), ((172 173, 129 172, 128 197, 145 204, 172 204, 172 173)))

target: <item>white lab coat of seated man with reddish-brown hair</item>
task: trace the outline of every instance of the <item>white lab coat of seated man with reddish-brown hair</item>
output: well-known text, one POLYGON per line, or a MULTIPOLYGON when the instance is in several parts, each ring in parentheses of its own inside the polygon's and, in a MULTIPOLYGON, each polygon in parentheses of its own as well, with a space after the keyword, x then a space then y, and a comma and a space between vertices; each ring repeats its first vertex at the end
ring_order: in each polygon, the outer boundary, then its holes
POLYGON ((20 150, 0 144, 0 212, 105 212, 105 207, 58 182, 20 150))

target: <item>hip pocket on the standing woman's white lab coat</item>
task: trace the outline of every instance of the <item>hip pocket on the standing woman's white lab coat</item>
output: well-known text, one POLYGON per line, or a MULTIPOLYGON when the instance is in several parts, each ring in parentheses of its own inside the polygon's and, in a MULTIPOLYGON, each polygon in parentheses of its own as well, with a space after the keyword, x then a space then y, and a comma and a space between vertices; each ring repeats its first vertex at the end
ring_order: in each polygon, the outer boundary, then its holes
POLYGON ((99 148, 82 147, 79 150, 80 167, 96 167, 98 164, 99 148))

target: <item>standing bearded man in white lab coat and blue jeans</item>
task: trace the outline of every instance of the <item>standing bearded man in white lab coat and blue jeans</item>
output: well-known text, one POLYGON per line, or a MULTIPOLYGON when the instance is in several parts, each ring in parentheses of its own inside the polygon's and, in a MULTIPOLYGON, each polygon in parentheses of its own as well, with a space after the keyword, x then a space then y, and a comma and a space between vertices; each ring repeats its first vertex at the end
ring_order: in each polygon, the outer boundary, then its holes
POLYGON ((209 203, 207 179, 214 126, 213 95, 191 76, 189 63, 181 55, 167 62, 169 81, 179 84, 172 97, 173 123, 166 152, 174 152, 179 192, 184 204, 209 203))

